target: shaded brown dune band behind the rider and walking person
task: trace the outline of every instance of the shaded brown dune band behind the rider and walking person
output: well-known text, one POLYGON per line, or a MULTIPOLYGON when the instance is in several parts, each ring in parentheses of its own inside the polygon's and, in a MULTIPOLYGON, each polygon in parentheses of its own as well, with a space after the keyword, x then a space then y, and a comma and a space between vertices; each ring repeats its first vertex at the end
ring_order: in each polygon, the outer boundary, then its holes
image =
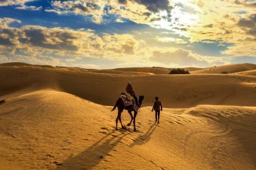
POLYGON ((45 88, 68 92, 102 105, 114 105, 126 83, 133 82, 144 106, 155 96, 164 107, 200 104, 256 106, 256 77, 235 74, 118 75, 90 73, 76 68, 0 66, 0 100, 45 88))

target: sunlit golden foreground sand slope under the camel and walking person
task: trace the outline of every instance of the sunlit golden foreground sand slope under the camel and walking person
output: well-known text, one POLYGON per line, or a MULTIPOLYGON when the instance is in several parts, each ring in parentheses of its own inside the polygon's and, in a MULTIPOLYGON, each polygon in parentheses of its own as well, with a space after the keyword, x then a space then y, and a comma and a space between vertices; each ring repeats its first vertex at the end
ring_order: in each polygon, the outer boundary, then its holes
POLYGON ((115 131, 110 109, 47 90, 9 99, 0 105, 1 169, 256 168, 255 107, 164 109, 158 125, 146 107, 137 132, 115 131))

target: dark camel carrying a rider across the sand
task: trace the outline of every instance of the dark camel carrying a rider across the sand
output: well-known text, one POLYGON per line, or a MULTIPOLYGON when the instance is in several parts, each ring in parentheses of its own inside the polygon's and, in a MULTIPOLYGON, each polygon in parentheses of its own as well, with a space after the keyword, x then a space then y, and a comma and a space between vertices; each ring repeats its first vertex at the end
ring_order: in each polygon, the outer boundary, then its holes
MULTIPOLYGON (((144 99, 144 96, 139 96, 138 104, 139 104, 140 107, 141 107, 141 105, 142 105, 143 99, 144 99)), ((123 103, 123 100, 121 99, 121 97, 119 97, 119 99, 118 99, 117 102, 115 103, 114 108, 112 109, 112 111, 114 111, 115 108, 118 109, 117 119, 115 120, 115 129, 117 130, 117 123, 118 123, 118 120, 119 120, 120 123, 121 123, 122 129, 125 129, 125 128, 123 127, 122 120, 121 120, 121 114, 122 114, 123 110, 125 109, 125 110, 128 111, 128 113, 129 113, 130 116, 131 116, 131 121, 130 121, 129 124, 127 124, 127 126, 130 126, 130 125, 131 125, 131 122, 133 121, 134 131, 136 131, 136 127, 135 127, 135 118, 136 118, 138 112, 134 111, 133 106, 130 105, 129 107, 125 107, 125 104, 123 103), (131 112, 134 112, 134 116, 133 116, 133 114, 131 114, 131 112)))

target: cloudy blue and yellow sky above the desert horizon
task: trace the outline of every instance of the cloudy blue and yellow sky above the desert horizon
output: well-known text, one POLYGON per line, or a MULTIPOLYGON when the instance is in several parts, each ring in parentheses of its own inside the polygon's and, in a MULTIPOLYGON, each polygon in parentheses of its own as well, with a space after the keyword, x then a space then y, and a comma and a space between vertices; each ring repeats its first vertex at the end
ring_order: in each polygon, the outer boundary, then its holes
POLYGON ((0 63, 256 64, 256 0, 0 0, 0 63))

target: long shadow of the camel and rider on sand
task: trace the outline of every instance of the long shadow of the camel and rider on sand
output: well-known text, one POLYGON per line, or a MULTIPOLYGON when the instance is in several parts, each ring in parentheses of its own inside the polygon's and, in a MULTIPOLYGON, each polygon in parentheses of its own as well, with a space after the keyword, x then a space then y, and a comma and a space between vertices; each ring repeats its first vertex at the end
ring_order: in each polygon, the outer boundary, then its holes
POLYGON ((105 135, 92 146, 86 148, 79 155, 68 158, 63 162, 63 165, 56 169, 91 169, 104 159, 105 156, 110 156, 109 152, 129 133, 114 135, 115 131, 105 135), (108 138, 105 141, 105 138, 108 138), (105 141, 101 143, 102 141, 105 141))

